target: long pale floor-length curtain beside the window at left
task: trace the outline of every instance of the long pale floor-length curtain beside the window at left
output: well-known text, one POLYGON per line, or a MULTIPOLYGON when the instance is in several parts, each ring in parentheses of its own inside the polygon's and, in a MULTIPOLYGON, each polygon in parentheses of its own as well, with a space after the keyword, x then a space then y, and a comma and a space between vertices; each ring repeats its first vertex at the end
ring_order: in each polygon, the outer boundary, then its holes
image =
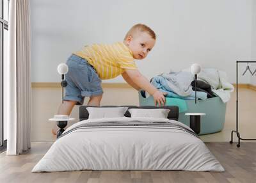
POLYGON ((30 148, 30 10, 29 0, 10 0, 9 47, 4 72, 4 115, 7 120, 8 155, 30 148))

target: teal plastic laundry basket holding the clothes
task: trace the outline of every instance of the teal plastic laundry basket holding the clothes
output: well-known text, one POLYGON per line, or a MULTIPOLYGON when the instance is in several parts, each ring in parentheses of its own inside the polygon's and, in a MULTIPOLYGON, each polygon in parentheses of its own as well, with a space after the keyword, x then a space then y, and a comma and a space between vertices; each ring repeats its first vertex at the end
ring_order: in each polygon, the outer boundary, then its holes
MULTIPOLYGON (((152 96, 145 98, 139 92, 140 106, 154 106, 152 96)), ((225 123, 226 106, 220 97, 213 97, 206 100, 183 100, 166 97, 166 106, 179 107, 179 122, 189 126, 189 116, 185 113, 205 113, 201 116, 200 134, 211 134, 220 132, 225 123)))

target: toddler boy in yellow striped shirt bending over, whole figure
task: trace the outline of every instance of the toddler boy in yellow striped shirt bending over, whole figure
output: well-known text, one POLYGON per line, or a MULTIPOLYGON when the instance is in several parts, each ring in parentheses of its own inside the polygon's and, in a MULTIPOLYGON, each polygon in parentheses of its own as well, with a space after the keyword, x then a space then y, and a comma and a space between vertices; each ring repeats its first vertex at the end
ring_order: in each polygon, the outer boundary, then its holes
MULTIPOLYGON (((74 52, 67 60, 68 83, 60 115, 70 115, 72 108, 82 105, 84 97, 90 97, 87 105, 100 106, 102 79, 111 79, 120 74, 136 90, 145 90, 154 97, 155 104, 164 105, 165 93, 157 90, 141 75, 134 59, 147 57, 156 42, 156 34, 144 24, 136 24, 128 31, 123 42, 115 44, 93 44, 74 52)), ((52 129, 56 134, 57 129, 52 129)))

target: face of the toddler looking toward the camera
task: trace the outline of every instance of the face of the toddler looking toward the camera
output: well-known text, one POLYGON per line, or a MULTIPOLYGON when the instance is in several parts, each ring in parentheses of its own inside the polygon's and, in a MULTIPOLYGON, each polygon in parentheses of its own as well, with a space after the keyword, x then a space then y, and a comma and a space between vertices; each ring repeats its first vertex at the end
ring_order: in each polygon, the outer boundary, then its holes
POLYGON ((148 52, 152 50, 156 43, 147 32, 138 32, 134 36, 128 36, 125 40, 125 44, 131 49, 133 58, 142 60, 146 58, 148 52))

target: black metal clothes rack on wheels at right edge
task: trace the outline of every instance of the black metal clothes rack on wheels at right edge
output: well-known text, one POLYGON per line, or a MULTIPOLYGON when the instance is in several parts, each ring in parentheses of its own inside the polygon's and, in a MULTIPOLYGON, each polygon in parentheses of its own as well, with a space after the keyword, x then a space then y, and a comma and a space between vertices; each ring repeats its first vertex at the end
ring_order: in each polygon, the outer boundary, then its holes
POLYGON ((256 63, 256 61, 236 61, 236 131, 231 132, 231 140, 229 143, 233 143, 233 132, 236 132, 238 138, 237 147, 240 147, 240 140, 256 140, 256 139, 245 139, 241 138, 240 133, 238 131, 238 64, 239 63, 256 63))

